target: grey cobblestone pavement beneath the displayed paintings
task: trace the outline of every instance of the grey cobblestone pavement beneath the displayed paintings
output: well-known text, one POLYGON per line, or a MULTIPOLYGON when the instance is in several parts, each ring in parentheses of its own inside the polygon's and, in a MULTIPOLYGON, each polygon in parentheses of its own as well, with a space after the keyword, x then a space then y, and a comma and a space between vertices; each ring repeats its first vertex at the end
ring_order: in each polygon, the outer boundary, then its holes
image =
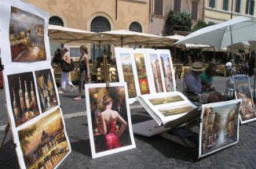
MULTIPOLYGON (((224 93, 225 77, 214 77, 214 85, 218 91, 224 93)), ((177 90, 182 90, 181 80, 177 80, 177 90)), ((198 151, 192 152, 159 135, 150 138, 134 135, 136 149, 92 159, 86 116, 80 114, 79 117, 68 117, 69 114, 86 110, 85 99, 79 102, 71 100, 75 94, 77 93, 68 92, 60 95, 63 113, 67 117, 65 123, 72 153, 59 168, 256 168, 256 122, 240 125, 240 141, 236 145, 199 160, 198 151)), ((3 89, 0 89, 0 95, 3 95, 3 89)), ((0 126, 3 126, 7 123, 7 117, 3 97, 0 101, 2 111, 0 126)), ((145 113, 143 108, 131 110, 133 124, 145 118, 141 118, 138 112, 145 113)), ((0 140, 3 134, 4 131, 0 130, 0 140)), ((9 132, 0 152, 1 169, 19 167, 15 149, 11 146, 12 139, 9 132)))

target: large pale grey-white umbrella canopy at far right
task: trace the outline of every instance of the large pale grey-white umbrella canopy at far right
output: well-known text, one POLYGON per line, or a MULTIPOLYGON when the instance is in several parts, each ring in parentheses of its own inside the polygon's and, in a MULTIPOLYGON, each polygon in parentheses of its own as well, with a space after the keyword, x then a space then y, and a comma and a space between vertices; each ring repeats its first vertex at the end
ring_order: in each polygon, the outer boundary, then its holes
POLYGON ((256 21, 245 16, 238 16, 224 23, 204 27, 188 34, 176 44, 195 43, 211 45, 223 49, 228 45, 256 38, 256 21))

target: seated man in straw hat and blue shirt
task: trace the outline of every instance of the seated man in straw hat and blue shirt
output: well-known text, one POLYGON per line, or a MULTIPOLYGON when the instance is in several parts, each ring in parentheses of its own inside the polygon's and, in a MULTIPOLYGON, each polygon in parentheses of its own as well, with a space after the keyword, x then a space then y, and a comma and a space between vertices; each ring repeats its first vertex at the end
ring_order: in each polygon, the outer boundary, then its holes
MULTIPOLYGON (((201 78, 199 75, 202 74, 203 70, 203 63, 193 63, 192 69, 188 71, 188 74, 186 74, 184 78, 186 88, 189 92, 199 93, 203 103, 220 102, 222 99, 221 93, 208 92, 207 88, 210 88, 210 85, 201 85, 201 78)), ((188 99, 195 100, 196 98, 198 98, 198 95, 188 95, 188 99)))

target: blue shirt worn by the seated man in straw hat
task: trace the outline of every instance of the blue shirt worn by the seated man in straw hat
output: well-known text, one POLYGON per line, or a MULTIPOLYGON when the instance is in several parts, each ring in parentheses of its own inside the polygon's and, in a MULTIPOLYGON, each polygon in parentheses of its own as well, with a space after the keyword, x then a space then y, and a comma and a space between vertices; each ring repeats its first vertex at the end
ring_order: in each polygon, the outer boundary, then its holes
POLYGON ((188 73, 184 77, 184 83, 188 90, 195 93, 201 93, 202 85, 201 78, 196 76, 192 70, 188 71, 188 73))

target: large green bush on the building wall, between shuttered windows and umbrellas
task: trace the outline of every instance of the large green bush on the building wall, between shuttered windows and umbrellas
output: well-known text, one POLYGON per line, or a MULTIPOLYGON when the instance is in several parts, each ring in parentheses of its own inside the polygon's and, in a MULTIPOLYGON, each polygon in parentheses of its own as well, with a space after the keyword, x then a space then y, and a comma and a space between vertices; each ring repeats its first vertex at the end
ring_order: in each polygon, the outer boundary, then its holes
POLYGON ((176 13, 170 10, 166 19, 166 33, 172 34, 173 31, 191 31, 191 13, 176 13))

